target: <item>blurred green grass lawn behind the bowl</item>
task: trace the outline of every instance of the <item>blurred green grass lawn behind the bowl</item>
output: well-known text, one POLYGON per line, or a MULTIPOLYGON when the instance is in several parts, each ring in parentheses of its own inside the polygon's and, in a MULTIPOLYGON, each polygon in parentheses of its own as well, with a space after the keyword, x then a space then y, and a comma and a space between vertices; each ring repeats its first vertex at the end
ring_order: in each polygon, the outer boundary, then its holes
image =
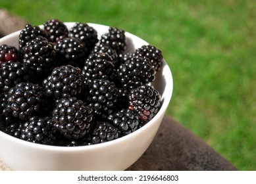
POLYGON ((256 170, 255 1, 5 0, 0 8, 34 26, 93 22, 145 39, 174 78, 166 114, 239 170, 256 170))

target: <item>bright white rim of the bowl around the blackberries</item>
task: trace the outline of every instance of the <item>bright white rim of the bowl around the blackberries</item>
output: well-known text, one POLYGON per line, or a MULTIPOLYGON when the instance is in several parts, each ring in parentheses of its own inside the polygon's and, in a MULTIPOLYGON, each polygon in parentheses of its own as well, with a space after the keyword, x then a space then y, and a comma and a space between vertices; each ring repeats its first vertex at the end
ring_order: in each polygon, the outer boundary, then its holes
MULTIPOLYGON (((68 26, 68 28, 70 28, 70 26, 74 25, 76 22, 64 22, 64 24, 66 24, 66 26, 68 26)), ((109 28, 110 26, 106 26, 103 24, 95 24, 95 23, 86 23, 91 27, 101 27, 101 28, 109 28)), ((39 25, 39 27, 42 25, 39 25)), ((4 37, 2 37, 0 39, 1 42, 5 42, 8 39, 11 39, 13 36, 16 36, 17 34, 20 33, 21 30, 18 30, 16 32, 13 32, 9 35, 5 35, 4 37)), ((125 35, 127 37, 130 38, 136 38, 136 39, 140 39, 141 43, 143 43, 144 45, 149 45, 149 43, 147 43, 147 41, 141 39, 141 37, 138 37, 137 35, 134 35, 130 32, 125 32, 125 35)), ((98 35, 98 37, 101 35, 98 35)), ((103 147, 109 147, 111 145, 115 145, 116 143, 120 143, 120 142, 126 142, 126 139, 130 139, 130 137, 134 137, 137 134, 140 134, 141 131, 143 131, 144 129, 147 129, 147 127, 151 126, 151 124, 153 124, 153 122, 155 122, 159 116, 161 116, 161 114, 165 114, 166 108, 168 107, 168 104, 170 103, 170 99, 172 97, 172 92, 173 92, 173 78, 172 78, 172 72, 170 70, 170 67, 168 66, 168 64, 166 63, 165 58, 163 58, 163 66, 161 68, 161 70, 165 70, 166 72, 166 76, 170 77, 168 78, 168 83, 166 83, 166 86, 164 88, 163 91, 166 91, 166 87, 169 87, 170 89, 168 89, 168 94, 166 95, 165 99, 163 100, 162 106, 159 109, 159 112, 157 112, 157 114, 152 118, 152 120, 150 120, 149 122, 147 122, 147 124, 145 124, 144 126, 140 127, 140 129, 137 129, 136 131, 125 135, 123 137, 120 137, 118 139, 115 139, 113 141, 109 141, 109 142, 105 142, 105 143, 99 143, 99 144, 95 144, 95 145, 84 145, 84 146, 78 146, 78 147, 61 147, 61 146, 55 146, 55 145, 43 145, 43 144, 38 144, 38 143, 32 143, 29 141, 24 141, 22 139, 18 139, 16 137, 13 137, 11 135, 8 135, 7 133, 0 131, 0 137, 4 137, 5 139, 9 139, 9 141, 18 143, 19 145, 24 145, 26 147, 33 147, 34 149, 41 149, 41 150, 52 150, 52 151, 61 151, 61 152, 76 152, 76 151, 82 151, 82 150, 91 150, 91 149, 101 149, 103 147)), ((163 94, 161 94, 161 97, 163 98, 163 94)))

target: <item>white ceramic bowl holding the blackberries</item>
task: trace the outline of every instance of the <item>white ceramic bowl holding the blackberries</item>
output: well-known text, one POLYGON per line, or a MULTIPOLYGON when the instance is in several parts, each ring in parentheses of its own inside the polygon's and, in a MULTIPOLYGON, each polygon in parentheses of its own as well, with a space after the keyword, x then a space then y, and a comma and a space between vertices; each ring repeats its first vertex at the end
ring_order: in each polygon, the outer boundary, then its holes
MULTIPOLYGON (((66 22, 68 28, 74 23, 66 22)), ((109 26, 90 24, 98 35, 108 32, 109 26)), ((0 39, 18 47, 19 32, 0 39)), ((148 45, 136 35, 126 32, 128 51, 148 45)), ((0 160, 13 170, 126 170, 134 164, 153 141, 172 96, 172 74, 163 60, 163 68, 152 85, 161 93, 163 105, 156 116, 134 133, 114 141, 84 147, 55 147, 39 145, 11 137, 0 131, 0 160)))

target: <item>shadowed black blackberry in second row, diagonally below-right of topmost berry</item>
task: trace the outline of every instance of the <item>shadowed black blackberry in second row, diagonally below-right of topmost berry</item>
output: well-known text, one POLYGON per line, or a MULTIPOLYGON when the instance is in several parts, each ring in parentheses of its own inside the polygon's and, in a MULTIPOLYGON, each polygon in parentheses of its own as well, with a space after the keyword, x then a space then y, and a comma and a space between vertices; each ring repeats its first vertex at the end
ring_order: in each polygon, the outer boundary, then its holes
POLYGON ((54 45, 61 65, 70 64, 82 68, 88 57, 88 51, 84 43, 76 37, 65 37, 54 45))

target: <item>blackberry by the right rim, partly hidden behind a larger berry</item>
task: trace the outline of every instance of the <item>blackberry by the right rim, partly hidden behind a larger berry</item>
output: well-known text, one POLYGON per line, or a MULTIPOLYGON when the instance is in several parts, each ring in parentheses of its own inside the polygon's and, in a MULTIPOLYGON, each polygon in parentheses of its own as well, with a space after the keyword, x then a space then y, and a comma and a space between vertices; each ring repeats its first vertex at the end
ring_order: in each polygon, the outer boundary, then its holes
POLYGON ((132 56, 148 58, 149 63, 156 71, 159 71, 163 65, 162 52, 153 45, 141 46, 140 48, 136 49, 134 53, 132 53, 132 56))

